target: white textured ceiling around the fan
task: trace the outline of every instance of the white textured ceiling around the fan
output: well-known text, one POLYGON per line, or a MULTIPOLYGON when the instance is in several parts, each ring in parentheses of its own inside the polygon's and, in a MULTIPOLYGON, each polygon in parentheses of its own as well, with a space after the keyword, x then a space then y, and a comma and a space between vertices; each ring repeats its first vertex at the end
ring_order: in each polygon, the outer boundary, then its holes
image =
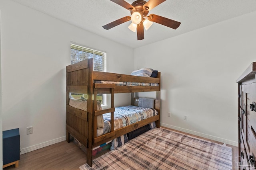
MULTIPOLYGON (((153 23, 150 29, 144 31, 144 40, 138 41, 137 34, 128 29, 131 21, 109 30, 103 29, 102 26, 107 23, 130 16, 130 11, 110 0, 12 1, 132 48, 256 11, 256 0, 166 0, 149 14, 179 21, 180 27, 175 30, 153 23)), ((134 1, 126 0, 130 4, 134 1)))

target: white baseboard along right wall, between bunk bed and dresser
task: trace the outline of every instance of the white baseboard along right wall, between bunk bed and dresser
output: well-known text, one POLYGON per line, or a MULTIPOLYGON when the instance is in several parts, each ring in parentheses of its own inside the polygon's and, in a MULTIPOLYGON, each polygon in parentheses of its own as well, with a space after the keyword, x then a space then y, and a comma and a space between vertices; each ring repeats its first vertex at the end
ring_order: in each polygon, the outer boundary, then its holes
POLYGON ((236 142, 236 141, 230 141, 228 139, 223 139, 223 138, 220 138, 220 137, 216 137, 216 136, 212 136, 212 135, 207 135, 207 134, 196 132, 196 131, 191 131, 189 129, 184 129, 184 128, 177 127, 177 126, 172 126, 172 125, 168 125, 168 124, 165 124, 165 123, 160 123, 160 126, 168 127, 170 129, 186 132, 186 133, 189 133, 189 134, 192 134, 192 135, 204 137, 204 138, 207 138, 207 139, 210 139, 210 140, 214 140, 214 141, 218 141, 218 142, 222 142, 222 143, 226 143, 228 145, 232 145, 232 146, 238 147, 238 142, 236 142))

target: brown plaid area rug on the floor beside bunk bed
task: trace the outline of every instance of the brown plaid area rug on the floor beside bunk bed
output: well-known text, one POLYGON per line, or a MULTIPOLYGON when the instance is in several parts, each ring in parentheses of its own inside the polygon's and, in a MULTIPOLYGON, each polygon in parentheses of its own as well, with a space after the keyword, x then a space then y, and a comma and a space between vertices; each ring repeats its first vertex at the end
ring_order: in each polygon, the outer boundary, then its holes
POLYGON ((232 148, 154 128, 80 170, 232 170, 232 148))

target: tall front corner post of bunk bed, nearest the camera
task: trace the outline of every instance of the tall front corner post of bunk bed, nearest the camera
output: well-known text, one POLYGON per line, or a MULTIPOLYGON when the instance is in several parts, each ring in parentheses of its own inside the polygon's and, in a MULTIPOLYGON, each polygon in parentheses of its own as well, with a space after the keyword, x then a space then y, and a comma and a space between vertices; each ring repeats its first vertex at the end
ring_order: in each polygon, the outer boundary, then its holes
POLYGON ((88 59, 89 77, 88 77, 88 92, 87 92, 87 112, 88 112, 88 143, 86 149, 86 162, 92 167, 92 140, 93 140, 93 58, 88 59))

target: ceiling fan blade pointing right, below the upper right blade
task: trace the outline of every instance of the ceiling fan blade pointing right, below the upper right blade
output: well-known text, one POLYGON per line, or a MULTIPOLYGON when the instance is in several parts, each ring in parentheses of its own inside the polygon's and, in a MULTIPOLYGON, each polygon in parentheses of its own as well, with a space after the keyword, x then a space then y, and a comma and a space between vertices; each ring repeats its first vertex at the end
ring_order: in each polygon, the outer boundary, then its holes
POLYGON ((148 16, 148 20, 156 22, 156 23, 160 23, 162 25, 165 25, 166 27, 170 27, 170 28, 173 28, 173 29, 178 28, 181 24, 178 21, 174 21, 174 20, 171 20, 171 19, 168 19, 168 18, 164 18, 162 16, 158 16, 158 15, 155 15, 155 14, 150 14, 148 16))

